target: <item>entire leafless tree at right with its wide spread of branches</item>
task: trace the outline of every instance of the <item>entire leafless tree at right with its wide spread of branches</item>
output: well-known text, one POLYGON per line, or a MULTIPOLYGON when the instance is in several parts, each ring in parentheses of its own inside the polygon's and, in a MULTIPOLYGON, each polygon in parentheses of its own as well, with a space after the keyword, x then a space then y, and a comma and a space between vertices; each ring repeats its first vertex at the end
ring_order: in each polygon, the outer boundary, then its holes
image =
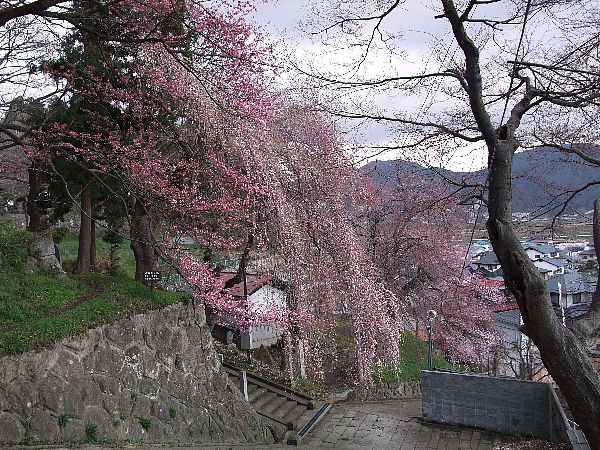
MULTIPOLYGON (((519 148, 554 144, 577 154, 587 153, 578 150, 579 139, 598 141, 597 5, 441 0, 430 16, 450 40, 434 36, 430 57, 407 67, 398 55, 401 30, 386 28, 403 14, 402 2, 334 3, 337 8, 328 10, 332 15, 322 35, 343 45, 350 42, 357 57, 343 76, 315 70, 314 79, 346 95, 368 87, 372 94, 397 94, 413 102, 400 110, 395 104, 389 108, 367 102, 325 103, 324 108, 350 119, 389 124, 400 138, 381 148, 437 149, 447 155, 457 146, 471 145, 487 152, 488 176, 475 186, 475 194, 487 205, 490 240, 519 304, 523 331, 540 350, 591 447, 600 448, 600 377, 582 341, 557 319, 546 284, 512 225, 512 166, 519 148), (376 48, 398 62, 387 65, 383 76, 365 70, 376 48)), ((590 323, 575 328, 596 329, 590 323)))

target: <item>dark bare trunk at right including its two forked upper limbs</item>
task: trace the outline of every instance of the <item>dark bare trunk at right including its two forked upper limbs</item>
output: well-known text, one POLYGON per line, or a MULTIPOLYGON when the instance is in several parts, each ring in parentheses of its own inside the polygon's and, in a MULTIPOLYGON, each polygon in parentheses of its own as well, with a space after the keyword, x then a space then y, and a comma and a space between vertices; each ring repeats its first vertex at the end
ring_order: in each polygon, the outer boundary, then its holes
POLYGON ((453 0, 441 0, 441 3, 443 16, 450 22, 465 57, 464 72, 459 76, 464 76, 461 84, 469 95, 473 117, 488 149, 489 219, 486 227, 490 241, 502 265, 506 285, 519 304, 523 332, 539 349, 544 365, 567 399, 590 446, 600 450, 600 377, 585 347, 556 317, 548 287, 512 227, 512 164, 519 147, 515 133, 540 91, 531 87, 529 79, 516 73, 525 92, 510 110, 506 123, 496 128, 483 96, 479 48, 465 28, 467 17, 458 13, 453 0))

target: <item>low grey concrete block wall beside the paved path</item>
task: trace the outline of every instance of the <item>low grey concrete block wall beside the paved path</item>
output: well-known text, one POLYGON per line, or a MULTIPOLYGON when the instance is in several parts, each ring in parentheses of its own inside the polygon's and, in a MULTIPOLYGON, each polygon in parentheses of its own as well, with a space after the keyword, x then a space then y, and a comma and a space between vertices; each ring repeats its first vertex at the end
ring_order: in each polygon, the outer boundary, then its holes
POLYGON ((568 424, 548 384, 449 372, 421 376, 426 420, 568 442, 568 424))

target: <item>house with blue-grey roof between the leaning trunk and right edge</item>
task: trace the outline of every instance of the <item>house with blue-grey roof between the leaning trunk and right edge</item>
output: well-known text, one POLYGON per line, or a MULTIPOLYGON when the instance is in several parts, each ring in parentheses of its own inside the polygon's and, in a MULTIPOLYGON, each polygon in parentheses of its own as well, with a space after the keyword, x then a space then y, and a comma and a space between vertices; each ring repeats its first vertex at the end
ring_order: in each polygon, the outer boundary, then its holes
POLYGON ((591 302, 596 290, 596 280, 579 272, 550 277, 547 285, 552 304, 564 308, 591 302))

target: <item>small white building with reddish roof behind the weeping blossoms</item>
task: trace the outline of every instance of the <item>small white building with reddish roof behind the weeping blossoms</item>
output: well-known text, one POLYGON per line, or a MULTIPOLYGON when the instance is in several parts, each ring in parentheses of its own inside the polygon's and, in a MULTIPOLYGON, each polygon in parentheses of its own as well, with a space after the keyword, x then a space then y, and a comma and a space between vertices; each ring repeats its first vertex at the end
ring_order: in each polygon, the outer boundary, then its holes
MULTIPOLYGON (((222 272, 219 274, 219 280, 224 284, 232 279, 235 273, 222 272)), ((246 283, 244 281, 233 285, 230 288, 223 289, 225 294, 233 297, 234 301, 244 305, 250 312, 261 313, 270 308, 285 308, 286 295, 277 287, 271 277, 259 274, 246 274, 246 283)), ((220 313, 210 315, 208 320, 213 327, 215 338, 236 345, 243 350, 253 350, 261 346, 269 347, 281 338, 283 330, 273 324, 252 325, 248 329, 242 329, 236 319, 231 316, 220 313)))

